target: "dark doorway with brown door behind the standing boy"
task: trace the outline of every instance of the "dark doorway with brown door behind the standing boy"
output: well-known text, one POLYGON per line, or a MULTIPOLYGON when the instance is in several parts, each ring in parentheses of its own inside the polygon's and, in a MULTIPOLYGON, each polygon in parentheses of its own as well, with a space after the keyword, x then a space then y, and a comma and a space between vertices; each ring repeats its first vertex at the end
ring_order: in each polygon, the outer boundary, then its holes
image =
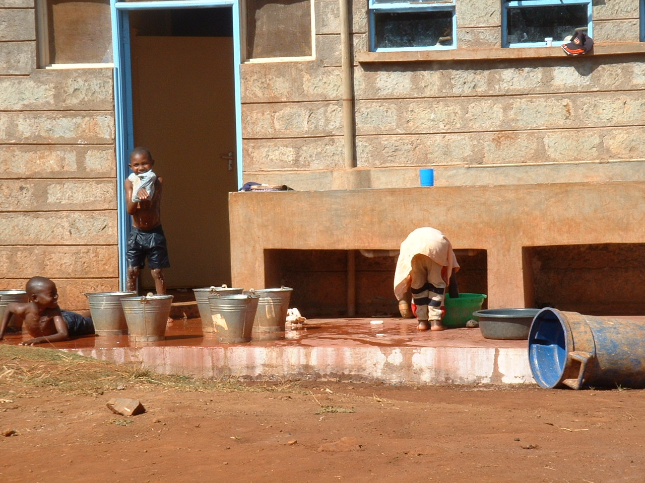
MULTIPOLYGON (((231 283, 237 191, 232 8, 129 12, 132 143, 163 178, 169 289, 231 283)), ((127 164, 127 163, 126 163, 127 164)), ((150 270, 142 290, 152 289, 150 270)))

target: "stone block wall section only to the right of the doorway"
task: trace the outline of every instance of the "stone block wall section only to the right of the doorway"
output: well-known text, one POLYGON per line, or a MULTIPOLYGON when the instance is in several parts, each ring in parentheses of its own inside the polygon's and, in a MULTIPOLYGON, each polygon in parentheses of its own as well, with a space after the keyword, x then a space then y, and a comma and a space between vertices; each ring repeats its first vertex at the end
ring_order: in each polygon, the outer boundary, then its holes
MULTIPOLYGON (((638 0, 595 4, 597 45, 639 42, 638 0)), ((365 175, 343 173, 338 2, 315 0, 315 61, 242 66, 245 178, 296 189, 409 187, 418 167, 434 166, 439 184, 459 185, 473 184, 464 166, 508 166, 491 176, 496 184, 517 182, 516 164, 544 164, 552 179, 582 181, 602 167, 571 164, 642 159, 641 54, 525 49, 535 57, 486 60, 477 52, 502 50, 501 1, 458 0, 456 9, 457 50, 470 59, 354 62, 354 171, 365 175)), ((353 3, 354 58, 369 49, 366 10, 353 3)), ((633 170, 617 179, 640 179, 633 170)))

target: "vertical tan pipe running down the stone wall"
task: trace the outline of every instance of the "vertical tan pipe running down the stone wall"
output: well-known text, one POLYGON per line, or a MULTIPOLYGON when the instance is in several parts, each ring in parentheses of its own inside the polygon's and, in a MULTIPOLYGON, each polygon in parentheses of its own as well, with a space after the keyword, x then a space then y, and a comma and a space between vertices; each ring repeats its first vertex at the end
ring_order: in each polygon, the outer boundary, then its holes
POLYGON ((354 89, 352 61, 352 26, 350 5, 352 0, 339 0, 341 23, 341 71, 342 71, 342 138, 345 167, 356 167, 354 129, 354 89))

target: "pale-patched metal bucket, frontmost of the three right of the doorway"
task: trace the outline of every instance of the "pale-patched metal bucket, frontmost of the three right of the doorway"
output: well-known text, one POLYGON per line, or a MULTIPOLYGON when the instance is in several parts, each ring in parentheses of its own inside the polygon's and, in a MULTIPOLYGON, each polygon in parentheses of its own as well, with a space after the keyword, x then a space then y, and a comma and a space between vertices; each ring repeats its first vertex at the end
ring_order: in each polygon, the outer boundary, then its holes
POLYGON ((236 344, 251 340, 259 299, 259 295, 250 293, 221 295, 215 292, 208 296, 217 342, 236 344))

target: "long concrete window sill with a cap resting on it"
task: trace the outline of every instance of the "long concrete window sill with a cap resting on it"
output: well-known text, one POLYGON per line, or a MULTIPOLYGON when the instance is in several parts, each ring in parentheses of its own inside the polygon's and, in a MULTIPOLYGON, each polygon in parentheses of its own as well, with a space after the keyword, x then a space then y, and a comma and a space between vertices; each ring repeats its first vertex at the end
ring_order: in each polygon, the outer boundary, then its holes
MULTIPOLYGON (((619 55, 645 53, 645 42, 595 44, 584 55, 619 55)), ((584 57, 584 55, 580 57, 584 57)), ((485 61, 506 59, 540 59, 568 57, 560 46, 520 48, 461 48, 456 50, 408 50, 399 52, 358 52, 357 62, 424 62, 424 61, 485 61)))

